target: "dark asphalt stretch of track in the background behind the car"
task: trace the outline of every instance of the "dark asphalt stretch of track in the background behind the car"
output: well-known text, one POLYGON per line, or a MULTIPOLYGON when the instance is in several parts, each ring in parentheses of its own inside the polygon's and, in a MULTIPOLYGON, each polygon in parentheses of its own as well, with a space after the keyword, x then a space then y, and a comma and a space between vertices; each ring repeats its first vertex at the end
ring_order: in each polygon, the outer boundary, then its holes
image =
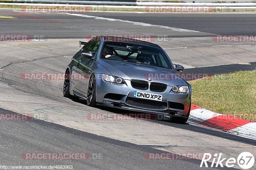
MULTIPOLYGON (((21 10, 1 10, 1 15, 13 16, 22 20, 10 22, 8 19, 1 21, 1 33, 27 33, 44 35, 45 38, 82 38, 101 31, 101 33, 125 34, 133 31, 125 29, 122 23, 99 22, 72 15, 59 13, 34 13, 29 14, 21 10), (27 15, 27 16, 24 16, 27 15), (3 27, 4 26, 4 27, 3 27), (19 29, 17 29, 19 28, 19 29), (45 29, 47 28, 47 29, 45 29), (20 32, 22 30, 22 32, 20 32), (111 32, 115 31, 115 32, 111 32)), ((167 32, 170 37, 200 37, 221 35, 254 35, 255 14, 165 14, 165 13, 110 13, 110 12, 83 12, 82 15, 115 18, 134 22, 143 22, 154 25, 177 27, 200 31, 201 33, 167 32)), ((149 33, 159 33, 156 29, 149 29, 149 33)), ((136 34, 145 33, 136 30, 136 34)), ((163 32, 161 34, 164 34, 163 32)))

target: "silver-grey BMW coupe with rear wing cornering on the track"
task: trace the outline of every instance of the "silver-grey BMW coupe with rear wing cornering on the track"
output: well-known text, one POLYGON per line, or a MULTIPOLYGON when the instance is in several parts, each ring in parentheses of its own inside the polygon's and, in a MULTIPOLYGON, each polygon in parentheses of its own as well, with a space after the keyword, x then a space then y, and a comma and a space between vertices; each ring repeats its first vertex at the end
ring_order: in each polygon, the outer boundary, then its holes
POLYGON ((87 105, 115 107, 170 116, 185 123, 191 108, 191 85, 177 72, 160 46, 135 39, 97 36, 71 59, 63 95, 85 99, 87 105))

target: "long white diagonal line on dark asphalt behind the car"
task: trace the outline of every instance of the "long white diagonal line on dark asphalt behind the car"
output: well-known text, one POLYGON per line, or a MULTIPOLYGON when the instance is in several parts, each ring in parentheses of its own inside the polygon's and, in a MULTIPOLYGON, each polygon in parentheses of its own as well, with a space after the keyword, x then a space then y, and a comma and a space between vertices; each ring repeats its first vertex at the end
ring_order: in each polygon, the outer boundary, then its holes
POLYGON ((78 17, 101 19, 101 20, 108 20, 108 21, 120 21, 120 22, 130 23, 130 24, 133 24, 133 25, 140 25, 140 26, 154 26, 154 27, 171 29, 172 31, 178 31, 178 32, 199 32, 199 31, 195 31, 195 30, 188 30, 188 29, 175 28, 175 27, 169 27, 169 26, 154 25, 154 24, 148 24, 148 23, 144 23, 144 22, 135 22, 135 21, 122 20, 122 19, 105 18, 105 17, 97 17, 97 16, 84 15, 84 14, 73 14, 73 13, 66 13, 66 14, 73 15, 73 16, 78 16, 78 17))

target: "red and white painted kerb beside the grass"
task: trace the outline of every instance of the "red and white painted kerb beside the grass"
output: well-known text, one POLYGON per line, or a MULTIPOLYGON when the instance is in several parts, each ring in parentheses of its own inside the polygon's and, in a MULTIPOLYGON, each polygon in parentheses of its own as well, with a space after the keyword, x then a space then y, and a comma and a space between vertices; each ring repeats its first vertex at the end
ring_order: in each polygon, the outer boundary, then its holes
POLYGON ((256 139, 256 122, 223 115, 191 104, 188 122, 256 139))

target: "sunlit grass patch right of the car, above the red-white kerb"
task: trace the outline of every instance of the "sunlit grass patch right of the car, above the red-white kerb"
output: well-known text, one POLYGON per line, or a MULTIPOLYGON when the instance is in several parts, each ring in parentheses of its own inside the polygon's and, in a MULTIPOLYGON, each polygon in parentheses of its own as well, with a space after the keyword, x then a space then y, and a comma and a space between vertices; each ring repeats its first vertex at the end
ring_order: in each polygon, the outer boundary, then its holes
POLYGON ((190 84, 193 104, 256 121, 256 70, 207 77, 190 84))

